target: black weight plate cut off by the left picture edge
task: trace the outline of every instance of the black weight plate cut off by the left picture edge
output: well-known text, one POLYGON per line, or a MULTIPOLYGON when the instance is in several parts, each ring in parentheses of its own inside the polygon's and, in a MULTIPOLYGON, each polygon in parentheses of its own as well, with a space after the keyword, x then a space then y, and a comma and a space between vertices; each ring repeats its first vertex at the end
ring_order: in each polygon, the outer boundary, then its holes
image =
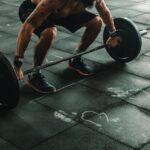
POLYGON ((19 83, 8 59, 0 53, 0 111, 14 108, 20 97, 19 83))

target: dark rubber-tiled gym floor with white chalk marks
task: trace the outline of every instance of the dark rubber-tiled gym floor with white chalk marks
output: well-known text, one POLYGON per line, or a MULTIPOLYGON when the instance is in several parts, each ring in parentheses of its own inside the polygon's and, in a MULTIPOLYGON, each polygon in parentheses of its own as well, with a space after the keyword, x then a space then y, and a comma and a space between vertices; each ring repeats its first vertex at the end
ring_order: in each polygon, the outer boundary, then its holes
MULTIPOLYGON (((11 63, 21 25, 20 3, 0 1, 0 51, 11 63)), ((148 29, 139 56, 120 65, 105 50, 85 55, 97 71, 89 78, 67 70, 67 62, 46 68, 43 74, 57 87, 55 94, 38 94, 25 79, 20 81, 19 104, 0 115, 0 150, 150 150, 150 2, 106 3, 114 17, 129 17, 140 30, 148 29)), ((58 29, 44 63, 70 56, 84 30, 71 34, 58 29)), ((32 65, 35 41, 33 36, 24 70, 32 65)), ((100 44, 102 33, 91 47, 100 44)))

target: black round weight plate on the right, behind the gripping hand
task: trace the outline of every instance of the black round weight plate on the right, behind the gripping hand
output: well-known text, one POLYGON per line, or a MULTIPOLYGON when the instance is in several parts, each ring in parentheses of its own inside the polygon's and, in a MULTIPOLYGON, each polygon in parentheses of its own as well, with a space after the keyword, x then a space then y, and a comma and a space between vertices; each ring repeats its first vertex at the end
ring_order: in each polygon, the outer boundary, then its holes
MULTIPOLYGON (((128 18, 114 19, 116 29, 122 37, 122 42, 115 48, 108 48, 108 54, 118 62, 126 63, 133 60, 141 50, 142 40, 140 32, 133 21, 128 18)), ((109 37, 108 29, 104 28, 103 41, 106 43, 109 37)))

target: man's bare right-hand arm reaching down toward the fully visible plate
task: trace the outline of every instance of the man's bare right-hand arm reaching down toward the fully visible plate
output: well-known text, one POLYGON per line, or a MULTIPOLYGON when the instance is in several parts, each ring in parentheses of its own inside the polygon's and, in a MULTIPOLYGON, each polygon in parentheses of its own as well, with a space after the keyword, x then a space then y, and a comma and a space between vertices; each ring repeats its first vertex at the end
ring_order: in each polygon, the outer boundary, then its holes
POLYGON ((108 30, 110 32, 115 31, 115 25, 112 18, 112 15, 106 6, 104 0, 97 0, 96 2, 96 9, 99 12, 100 16, 102 17, 103 22, 106 24, 108 30))

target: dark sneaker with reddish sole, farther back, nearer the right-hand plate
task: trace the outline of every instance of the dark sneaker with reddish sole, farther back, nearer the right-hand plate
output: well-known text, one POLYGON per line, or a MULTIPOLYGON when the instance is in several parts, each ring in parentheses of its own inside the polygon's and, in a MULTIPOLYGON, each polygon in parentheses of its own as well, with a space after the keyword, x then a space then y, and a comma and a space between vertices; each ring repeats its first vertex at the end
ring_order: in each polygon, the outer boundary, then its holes
POLYGON ((83 76, 90 76, 93 74, 92 68, 86 65, 81 57, 69 60, 68 68, 75 70, 83 76))

